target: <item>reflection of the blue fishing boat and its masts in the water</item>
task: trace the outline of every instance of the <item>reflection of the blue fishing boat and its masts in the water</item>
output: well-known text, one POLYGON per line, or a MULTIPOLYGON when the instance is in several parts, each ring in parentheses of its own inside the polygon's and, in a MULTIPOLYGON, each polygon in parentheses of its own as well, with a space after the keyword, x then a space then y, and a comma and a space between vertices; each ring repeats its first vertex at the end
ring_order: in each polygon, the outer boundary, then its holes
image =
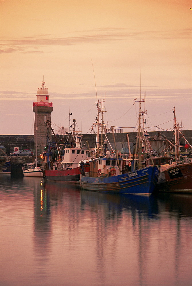
MULTIPOLYGON (((134 195, 117 195, 102 194, 89 191, 81 191, 81 206, 86 209, 89 207, 91 212, 97 216, 97 270, 104 281, 105 276, 105 249, 107 241, 111 239, 111 258, 114 264, 117 263, 117 249, 119 247, 119 231, 120 225, 125 217, 126 222, 125 235, 128 237, 133 232, 136 238, 134 244, 129 242, 138 255, 139 280, 142 285, 143 275, 145 273, 145 261, 148 253, 148 236, 146 236, 146 228, 150 232, 148 225, 149 219, 156 219, 158 214, 157 200, 153 197, 134 196, 134 195), (127 217, 127 215, 128 217, 127 217), (101 215, 102 214, 102 215, 101 215), (145 221, 145 223, 143 222, 145 221), (136 244, 138 244, 136 246, 136 244), (136 247, 135 247, 136 246, 136 247)), ((149 235, 149 234, 148 234, 149 235)))

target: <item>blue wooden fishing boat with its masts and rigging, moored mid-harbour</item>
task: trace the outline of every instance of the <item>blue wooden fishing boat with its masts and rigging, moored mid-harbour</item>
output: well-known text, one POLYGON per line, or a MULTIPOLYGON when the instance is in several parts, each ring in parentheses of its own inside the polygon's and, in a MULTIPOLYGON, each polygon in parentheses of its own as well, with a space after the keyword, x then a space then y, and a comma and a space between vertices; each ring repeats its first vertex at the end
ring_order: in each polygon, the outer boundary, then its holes
MULTIPOLYGON (((119 152, 117 151, 114 133, 115 152, 107 151, 107 137, 104 142, 101 140, 101 143, 99 143, 99 127, 101 126, 101 134, 103 134, 105 124, 103 122, 103 107, 101 106, 101 109, 99 108, 99 102, 97 103, 97 108, 98 115, 95 123, 95 125, 97 125, 97 142, 95 153, 92 154, 90 160, 79 162, 81 166, 81 176, 79 180, 81 188, 96 192, 150 196, 157 184, 159 170, 157 166, 149 166, 146 168, 145 162, 142 163, 140 124, 138 126, 136 142, 138 151, 136 150, 135 152, 132 171, 127 172, 125 168, 126 162, 120 158, 119 152), (99 114, 102 115, 101 120, 99 120, 99 114), (87 164, 89 164, 89 173, 86 174, 84 166, 87 164)), ((113 126, 111 126, 111 131, 113 132, 113 126)))

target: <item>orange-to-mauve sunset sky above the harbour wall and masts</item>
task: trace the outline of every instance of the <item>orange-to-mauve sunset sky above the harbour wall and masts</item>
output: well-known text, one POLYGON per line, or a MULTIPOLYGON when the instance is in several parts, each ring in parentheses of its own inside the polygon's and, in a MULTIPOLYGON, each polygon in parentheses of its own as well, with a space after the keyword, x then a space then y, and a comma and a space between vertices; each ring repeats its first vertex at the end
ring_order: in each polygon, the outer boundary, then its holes
POLYGON ((1 0, 0 5, 0 134, 34 133, 32 106, 43 77, 56 132, 68 127, 69 110, 82 133, 90 132, 95 102, 105 95, 108 128, 135 131, 126 127, 137 125, 138 103, 133 104, 140 90, 148 131, 171 130, 173 106, 183 129, 192 129, 191 1, 1 0))

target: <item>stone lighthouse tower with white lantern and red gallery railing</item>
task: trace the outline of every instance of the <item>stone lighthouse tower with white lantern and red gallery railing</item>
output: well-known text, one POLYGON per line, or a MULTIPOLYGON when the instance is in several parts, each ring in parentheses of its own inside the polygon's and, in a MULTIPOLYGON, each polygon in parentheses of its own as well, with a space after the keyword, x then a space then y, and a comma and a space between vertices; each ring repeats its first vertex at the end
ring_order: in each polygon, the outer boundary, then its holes
POLYGON ((34 141, 37 144, 38 154, 44 152, 47 135, 51 140, 51 130, 50 128, 47 129, 46 121, 51 121, 51 112, 53 111, 53 104, 49 102, 49 93, 44 80, 41 84, 37 91, 37 101, 33 102, 33 112, 35 112, 34 141))

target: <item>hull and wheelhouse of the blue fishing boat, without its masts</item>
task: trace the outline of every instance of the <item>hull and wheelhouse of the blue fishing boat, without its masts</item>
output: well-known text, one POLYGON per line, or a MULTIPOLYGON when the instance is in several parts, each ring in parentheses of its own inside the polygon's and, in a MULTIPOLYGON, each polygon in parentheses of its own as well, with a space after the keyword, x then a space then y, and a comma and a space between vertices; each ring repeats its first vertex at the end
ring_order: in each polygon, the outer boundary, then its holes
POLYGON ((123 162, 124 160, 119 159, 120 165, 117 165, 117 158, 94 159, 89 162, 89 176, 83 176, 83 162, 80 163, 82 168, 79 180, 81 188, 96 192, 150 196, 158 181, 158 168, 149 166, 123 174, 121 171, 123 162), (105 167, 102 168, 104 165, 105 167))

